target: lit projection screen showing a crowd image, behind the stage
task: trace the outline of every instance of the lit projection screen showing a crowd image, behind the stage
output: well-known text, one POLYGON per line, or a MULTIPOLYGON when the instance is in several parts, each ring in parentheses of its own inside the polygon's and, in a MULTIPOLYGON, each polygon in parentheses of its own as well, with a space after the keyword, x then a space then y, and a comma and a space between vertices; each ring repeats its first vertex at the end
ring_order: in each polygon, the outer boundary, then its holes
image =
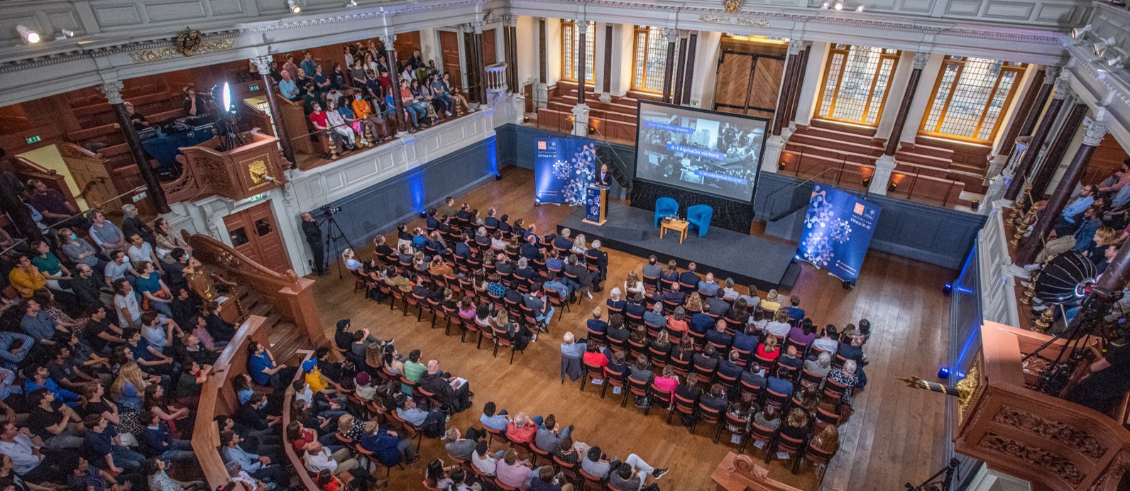
POLYGON ((640 104, 636 178, 753 199, 767 121, 640 104))

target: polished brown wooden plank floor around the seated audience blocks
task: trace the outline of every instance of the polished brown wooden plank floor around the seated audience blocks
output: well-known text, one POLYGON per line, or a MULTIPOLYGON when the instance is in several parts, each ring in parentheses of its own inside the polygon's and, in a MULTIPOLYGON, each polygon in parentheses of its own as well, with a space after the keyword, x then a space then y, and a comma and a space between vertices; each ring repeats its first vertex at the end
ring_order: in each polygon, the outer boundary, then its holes
MULTIPOLYGON (((537 222, 542 233, 572 211, 565 207, 533 207, 531 170, 512 167, 503 176, 458 201, 483 210, 498 207, 499 213, 537 222)), ((372 247, 366 247, 362 256, 371 257, 372 247)), ((638 271, 645 262, 616 251, 609 251, 609 278, 620 282, 627 271, 638 271)), ((757 261, 756 251, 749 252, 749 260, 757 261)), ((349 317, 354 328, 368 327, 381 337, 395 337, 401 353, 420 349, 425 359, 438 359, 443 369, 469 379, 475 407, 452 418, 457 428, 466 430, 478 424, 483 404, 488 401, 511 414, 555 413, 563 426, 576 426, 573 437, 577 441, 599 445, 609 455, 620 457, 636 453, 657 467, 671 467, 659 482, 664 490, 713 489, 711 472, 736 447, 728 445, 725 437, 713 444, 702 428, 698 435, 689 435, 679 424, 668 426, 661 411, 644 417, 632 404, 620 407, 614 397, 601 400, 592 386, 581 393, 579 385, 558 382, 562 333, 571 330, 581 335, 586 313, 598 303, 602 305, 603 298, 572 306, 572 313, 553 322, 550 334, 541 335, 508 365, 508 357, 492 358, 486 349, 476 351, 471 342, 460 344, 459 336, 444 336, 442 328, 429 330, 427 316, 417 324, 415 316, 402 317, 399 310, 391 313, 388 304, 377 305, 362 293, 353 293, 353 279, 347 274, 339 280, 336 268, 331 271, 333 274, 318 279, 314 286, 327 333, 331 333, 337 319, 349 317)), ((942 296, 941 287, 954 275, 954 271, 940 266, 871 252, 859 286, 845 291, 835 278, 805 265, 794 292, 802 298, 801 307, 809 317, 818 324, 837 326, 863 317, 871 321, 873 335, 864 347, 871 360, 866 369, 869 385, 854 397, 855 413, 841 428, 842 448, 823 484, 817 483, 810 468, 793 475, 786 464, 776 461, 770 464, 773 479, 806 490, 897 490, 905 482, 923 481, 944 466, 947 437, 942 435, 941 396, 906 388, 894 377, 925 378, 941 365, 949 316, 948 298, 942 296)), ((746 451, 753 451, 753 446, 746 451)), ((438 440, 425 439, 421 455, 424 458, 407 471, 393 472, 390 489, 418 489, 427 461, 446 454, 438 440)))

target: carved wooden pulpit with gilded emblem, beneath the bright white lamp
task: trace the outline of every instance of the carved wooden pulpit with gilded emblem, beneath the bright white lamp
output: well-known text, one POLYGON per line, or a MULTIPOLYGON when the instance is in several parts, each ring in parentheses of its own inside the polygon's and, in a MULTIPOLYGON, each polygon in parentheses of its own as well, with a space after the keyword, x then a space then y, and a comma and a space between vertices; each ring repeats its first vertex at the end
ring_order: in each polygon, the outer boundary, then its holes
POLYGON ((219 195, 243 200, 286 183, 289 167, 278 149, 278 139, 258 128, 243 133, 244 144, 228 151, 215 149, 216 139, 181 148, 176 157, 181 177, 162 184, 169 203, 219 195))

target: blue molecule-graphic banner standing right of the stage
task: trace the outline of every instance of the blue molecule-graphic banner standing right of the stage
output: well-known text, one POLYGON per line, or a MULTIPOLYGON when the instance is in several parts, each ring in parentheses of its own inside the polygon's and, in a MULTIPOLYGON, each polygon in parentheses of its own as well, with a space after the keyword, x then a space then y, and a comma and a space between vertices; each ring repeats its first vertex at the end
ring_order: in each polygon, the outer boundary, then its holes
POLYGON ((844 281, 855 281, 871 245, 879 207, 826 184, 812 186, 797 255, 844 281))

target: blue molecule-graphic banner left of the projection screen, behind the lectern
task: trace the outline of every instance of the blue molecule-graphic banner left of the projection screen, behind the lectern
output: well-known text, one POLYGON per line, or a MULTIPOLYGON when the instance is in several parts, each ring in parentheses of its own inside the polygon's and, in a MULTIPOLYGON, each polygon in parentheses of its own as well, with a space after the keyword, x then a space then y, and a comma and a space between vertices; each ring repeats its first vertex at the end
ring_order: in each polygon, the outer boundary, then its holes
POLYGON ((541 203, 583 205, 596 176, 597 142, 586 138, 544 138, 533 151, 534 195, 541 203))

